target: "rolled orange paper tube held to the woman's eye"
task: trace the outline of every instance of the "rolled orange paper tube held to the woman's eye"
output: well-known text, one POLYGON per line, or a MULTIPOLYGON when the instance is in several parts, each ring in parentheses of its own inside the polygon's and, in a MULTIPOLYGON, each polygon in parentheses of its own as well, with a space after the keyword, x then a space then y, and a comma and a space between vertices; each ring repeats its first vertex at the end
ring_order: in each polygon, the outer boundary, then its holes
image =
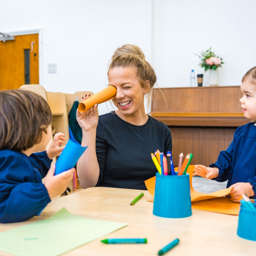
POLYGON ((103 89, 102 91, 97 92, 91 97, 89 97, 88 99, 82 101, 78 105, 78 111, 80 113, 83 113, 88 109, 92 108, 95 104, 97 103, 100 104, 105 101, 111 100, 115 98, 115 96, 116 96, 116 87, 114 87, 113 85, 109 85, 107 88, 103 89))

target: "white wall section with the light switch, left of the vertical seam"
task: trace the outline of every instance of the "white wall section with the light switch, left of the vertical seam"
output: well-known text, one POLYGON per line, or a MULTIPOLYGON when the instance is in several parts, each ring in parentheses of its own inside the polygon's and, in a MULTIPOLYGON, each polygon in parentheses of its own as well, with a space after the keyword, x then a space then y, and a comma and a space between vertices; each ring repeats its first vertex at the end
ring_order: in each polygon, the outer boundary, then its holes
MULTIPOLYGON (((0 32, 42 28, 42 85, 47 91, 95 93, 104 89, 109 60, 126 43, 139 45, 150 60, 149 0, 0 2, 0 32), (48 74, 50 63, 57 64, 56 74, 48 74)), ((105 103, 98 108, 100 114, 109 112, 105 103)))

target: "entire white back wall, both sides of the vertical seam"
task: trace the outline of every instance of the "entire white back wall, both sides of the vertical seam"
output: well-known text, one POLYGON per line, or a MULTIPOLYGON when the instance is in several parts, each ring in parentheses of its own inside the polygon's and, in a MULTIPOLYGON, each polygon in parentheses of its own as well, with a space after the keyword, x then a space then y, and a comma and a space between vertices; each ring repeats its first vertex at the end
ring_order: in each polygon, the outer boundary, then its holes
MULTIPOLYGON (((159 87, 189 86, 191 69, 203 73, 194 53, 210 46, 225 62, 219 69, 220 85, 239 85, 243 74, 256 65, 255 0, 0 0, 0 4, 0 32, 42 28, 41 80, 47 91, 103 89, 110 57, 125 43, 142 48, 159 87), (57 74, 48 74, 51 63, 57 63, 57 74)), ((209 85, 208 72, 203 85, 209 85)), ((100 114, 108 111, 105 103, 99 105, 100 114)))

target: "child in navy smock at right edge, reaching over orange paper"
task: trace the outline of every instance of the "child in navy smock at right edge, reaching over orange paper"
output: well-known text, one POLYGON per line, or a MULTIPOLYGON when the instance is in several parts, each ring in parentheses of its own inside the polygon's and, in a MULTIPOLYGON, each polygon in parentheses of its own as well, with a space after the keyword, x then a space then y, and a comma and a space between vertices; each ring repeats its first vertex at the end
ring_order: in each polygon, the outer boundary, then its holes
POLYGON ((236 129, 230 146, 220 152, 214 164, 195 165, 193 174, 220 182, 228 180, 234 202, 239 202, 242 194, 256 197, 256 66, 243 76, 241 91, 244 117, 253 121, 236 129))

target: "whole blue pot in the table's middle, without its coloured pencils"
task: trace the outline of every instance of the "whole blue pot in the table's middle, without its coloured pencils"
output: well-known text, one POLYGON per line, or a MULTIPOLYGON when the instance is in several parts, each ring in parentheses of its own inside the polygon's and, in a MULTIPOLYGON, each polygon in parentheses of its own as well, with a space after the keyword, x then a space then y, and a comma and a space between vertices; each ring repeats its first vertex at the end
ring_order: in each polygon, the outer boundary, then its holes
POLYGON ((153 214, 165 218, 184 218, 192 215, 189 174, 156 174, 153 214))

